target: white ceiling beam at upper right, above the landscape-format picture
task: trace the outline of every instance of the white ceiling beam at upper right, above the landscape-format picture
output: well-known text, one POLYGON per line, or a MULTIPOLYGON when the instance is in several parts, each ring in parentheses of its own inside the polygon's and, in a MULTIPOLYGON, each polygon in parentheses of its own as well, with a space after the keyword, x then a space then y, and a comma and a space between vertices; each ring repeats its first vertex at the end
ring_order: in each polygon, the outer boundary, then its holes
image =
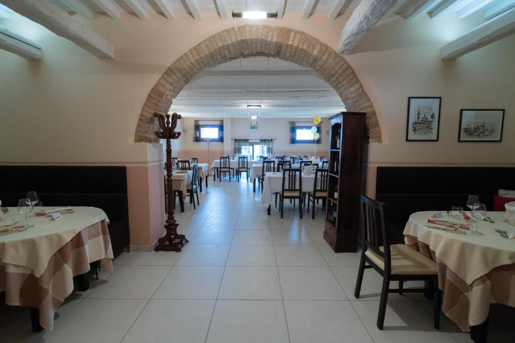
POLYGON ((453 60, 515 33, 515 8, 490 19, 442 47, 442 60, 453 60))

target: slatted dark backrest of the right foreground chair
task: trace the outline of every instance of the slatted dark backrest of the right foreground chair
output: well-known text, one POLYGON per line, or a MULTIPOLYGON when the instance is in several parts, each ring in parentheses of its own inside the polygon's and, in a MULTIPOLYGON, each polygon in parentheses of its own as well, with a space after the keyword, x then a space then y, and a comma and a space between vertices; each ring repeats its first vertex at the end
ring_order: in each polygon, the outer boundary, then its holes
POLYGON ((361 196, 362 248, 370 249, 384 260, 384 270, 390 274, 390 245, 386 236, 385 204, 361 196), (383 251, 379 247, 383 246, 383 251))

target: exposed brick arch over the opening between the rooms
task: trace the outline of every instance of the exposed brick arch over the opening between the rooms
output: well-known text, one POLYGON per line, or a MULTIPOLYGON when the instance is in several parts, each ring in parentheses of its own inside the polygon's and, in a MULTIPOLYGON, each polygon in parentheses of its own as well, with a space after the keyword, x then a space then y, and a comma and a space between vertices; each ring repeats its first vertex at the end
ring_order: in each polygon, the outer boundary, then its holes
POLYGON ((374 106, 354 70, 338 52, 304 32, 262 25, 245 25, 216 33, 170 65, 148 94, 134 141, 158 142, 154 132, 159 125, 152 114, 168 113, 174 98, 202 69, 252 56, 271 56, 312 67, 335 89, 347 111, 367 113, 369 141, 381 143, 374 106))

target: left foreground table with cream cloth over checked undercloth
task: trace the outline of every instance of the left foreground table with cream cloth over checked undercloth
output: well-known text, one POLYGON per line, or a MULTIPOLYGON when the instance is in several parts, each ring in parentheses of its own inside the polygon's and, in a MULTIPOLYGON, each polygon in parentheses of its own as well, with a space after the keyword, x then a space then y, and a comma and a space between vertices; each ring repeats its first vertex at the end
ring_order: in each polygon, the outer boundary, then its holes
POLYGON ((89 280, 90 263, 113 272, 108 216, 100 208, 77 206, 58 219, 29 216, 28 228, 16 232, 10 224, 20 213, 7 209, 0 221, 0 292, 7 305, 30 308, 32 331, 52 330, 54 314, 74 291, 74 281, 89 280))

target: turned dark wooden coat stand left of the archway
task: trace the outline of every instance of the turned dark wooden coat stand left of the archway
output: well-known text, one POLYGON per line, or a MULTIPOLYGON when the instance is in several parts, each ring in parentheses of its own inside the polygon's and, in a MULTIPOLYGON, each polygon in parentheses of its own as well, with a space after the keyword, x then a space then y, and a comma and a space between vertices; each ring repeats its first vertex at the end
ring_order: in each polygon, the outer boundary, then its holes
MULTIPOLYGON (((158 118, 159 126, 161 127, 161 131, 156 131, 156 136, 160 139, 166 139, 166 192, 167 194, 174 194, 174 185, 173 178, 171 174, 171 139, 177 139, 181 135, 180 132, 175 132, 175 128, 177 127, 177 119, 181 119, 181 115, 174 113, 171 115, 166 114, 165 117, 155 112, 154 117, 158 118)), ((166 224, 164 228, 166 229, 166 233, 163 237, 158 239, 158 245, 154 249, 155 251, 181 251, 184 244, 189 241, 183 234, 177 233, 177 221, 174 217, 174 204, 173 201, 168 201, 167 205, 167 213, 168 217, 166 219, 166 224)))

